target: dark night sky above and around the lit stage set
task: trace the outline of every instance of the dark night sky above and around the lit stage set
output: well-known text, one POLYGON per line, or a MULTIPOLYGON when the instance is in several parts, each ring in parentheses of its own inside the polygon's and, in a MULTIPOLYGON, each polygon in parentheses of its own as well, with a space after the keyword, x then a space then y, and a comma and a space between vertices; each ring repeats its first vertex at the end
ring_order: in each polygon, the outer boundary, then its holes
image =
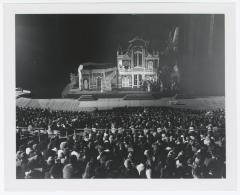
POLYGON ((187 91, 194 89, 202 94, 211 92, 212 95, 223 95, 224 17, 216 17, 217 34, 214 39, 216 44, 212 47, 214 58, 211 58, 211 63, 204 62, 203 65, 195 62, 206 57, 204 46, 208 45, 209 40, 204 34, 201 39, 206 38, 205 41, 197 39, 199 33, 195 33, 193 37, 189 36, 191 35, 189 30, 196 31, 194 20, 201 21, 199 18, 203 19, 202 22, 198 22, 198 29, 204 32, 206 21, 201 15, 194 18, 191 15, 162 14, 18 14, 16 15, 16 87, 29 89, 39 98, 60 97, 61 91, 69 83, 69 73, 77 73, 79 64, 116 63, 118 47, 126 48, 128 41, 135 36, 149 40, 150 46, 161 51, 168 39, 169 31, 179 26, 182 37, 179 42, 180 54, 185 56, 180 65, 184 77, 183 88, 187 91), (205 45, 200 47, 201 44, 205 45), (191 47, 196 48, 196 53, 189 52, 191 47), (193 55, 191 62, 189 62, 190 55, 193 55), (208 86, 206 86, 206 78, 208 86), (218 78, 221 78, 220 81, 218 78))

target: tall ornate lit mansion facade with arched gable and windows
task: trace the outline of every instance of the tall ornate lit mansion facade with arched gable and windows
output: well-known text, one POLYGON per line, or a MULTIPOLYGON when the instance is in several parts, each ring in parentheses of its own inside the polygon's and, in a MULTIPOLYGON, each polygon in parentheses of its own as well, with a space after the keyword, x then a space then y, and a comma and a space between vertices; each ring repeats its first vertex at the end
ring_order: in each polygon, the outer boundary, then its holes
POLYGON ((125 52, 117 51, 118 81, 121 88, 139 88, 144 81, 157 81, 159 53, 148 51, 148 42, 138 37, 129 41, 125 52))

